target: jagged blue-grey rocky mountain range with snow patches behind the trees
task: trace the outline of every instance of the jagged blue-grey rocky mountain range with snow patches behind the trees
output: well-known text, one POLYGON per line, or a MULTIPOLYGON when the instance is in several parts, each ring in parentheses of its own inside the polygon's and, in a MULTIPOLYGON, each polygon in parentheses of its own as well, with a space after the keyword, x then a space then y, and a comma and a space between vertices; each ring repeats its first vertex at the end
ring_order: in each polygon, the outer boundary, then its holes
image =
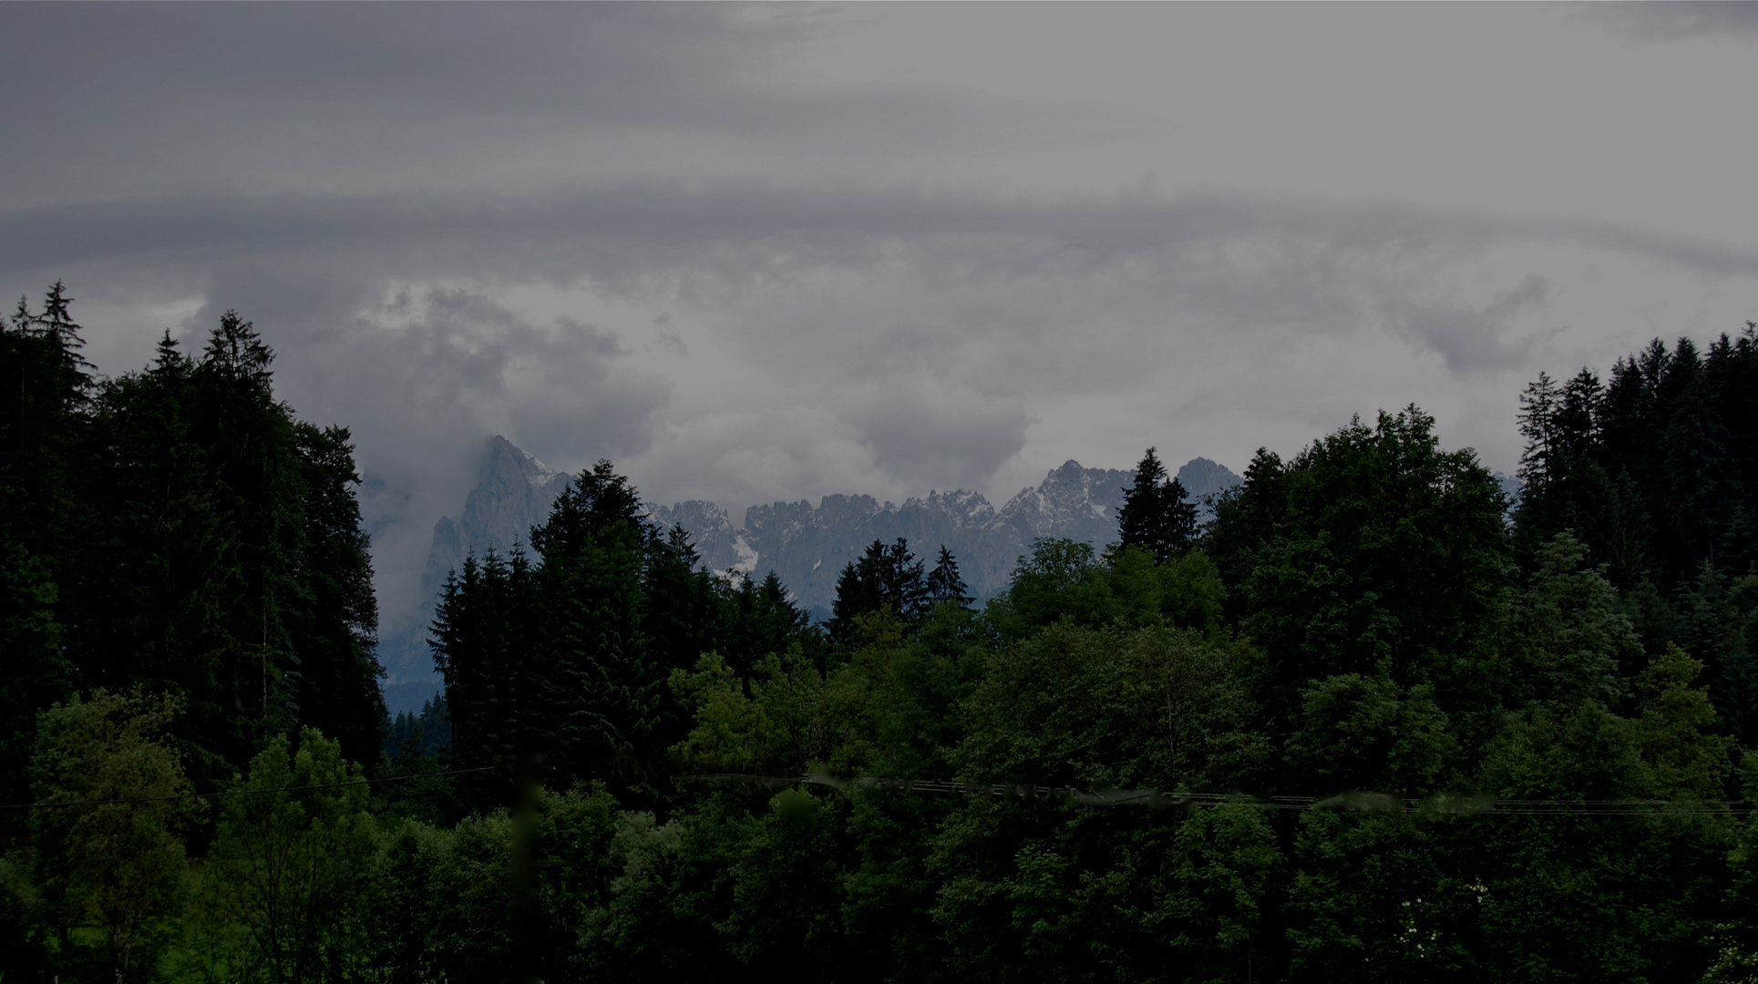
MULTIPOLYGON (((1067 538, 1097 548, 1116 539, 1116 511, 1132 473, 1115 467, 1083 467, 1067 460, 1035 487, 1021 488, 995 508, 981 492, 928 492, 902 504, 872 496, 825 496, 817 506, 768 503, 745 510, 744 522, 716 503, 691 499, 668 506, 649 504, 649 517, 661 527, 682 525, 703 568, 717 573, 763 576, 775 571, 795 601, 828 617, 837 596, 837 575, 858 559, 874 539, 909 541, 918 557, 932 559, 946 545, 977 597, 1007 583, 1014 564, 1030 552, 1034 539, 1067 538)), ((1239 483, 1239 476, 1208 459, 1190 459, 1178 480, 1194 499, 1239 483)), ((418 708, 438 692, 440 678, 427 652, 427 626, 434 597, 447 575, 466 557, 489 550, 506 554, 529 538, 533 525, 573 476, 556 471, 506 438, 489 439, 482 481, 464 499, 454 520, 434 524, 432 546, 422 573, 422 610, 413 627, 387 634, 380 659, 389 675, 385 703, 397 710, 418 708)), ((1201 513, 1208 517, 1208 510, 1201 513)))

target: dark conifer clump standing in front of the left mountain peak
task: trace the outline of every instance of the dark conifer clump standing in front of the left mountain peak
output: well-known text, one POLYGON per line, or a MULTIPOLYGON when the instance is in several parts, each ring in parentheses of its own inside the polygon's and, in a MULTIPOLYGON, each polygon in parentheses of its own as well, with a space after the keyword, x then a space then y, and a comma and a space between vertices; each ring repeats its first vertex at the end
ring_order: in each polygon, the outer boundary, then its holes
POLYGON ((626 476, 598 462, 533 527, 536 562, 468 559, 432 629, 464 803, 510 807, 520 770, 554 785, 605 780, 654 796, 689 717, 668 687, 705 652, 740 671, 821 643, 770 575, 737 587, 696 569, 682 529, 661 536, 626 476))

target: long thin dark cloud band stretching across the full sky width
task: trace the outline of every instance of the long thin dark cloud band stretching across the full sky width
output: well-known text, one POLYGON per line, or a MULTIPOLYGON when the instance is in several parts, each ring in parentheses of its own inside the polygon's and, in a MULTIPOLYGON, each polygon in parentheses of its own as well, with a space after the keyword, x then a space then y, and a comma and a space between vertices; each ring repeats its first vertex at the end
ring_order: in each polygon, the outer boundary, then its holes
MULTIPOLYGON (((306 257, 378 276, 575 283, 638 292, 714 290, 812 267, 861 269, 898 248, 933 253, 933 283, 1088 276, 1164 257, 1225 297, 1252 257, 1289 271, 1343 253, 1457 257, 1510 239, 1575 241, 1677 264, 1702 276, 1758 272, 1758 251, 1609 223, 1510 220, 1384 206, 1257 197, 1009 200, 916 190, 700 188, 633 183, 541 197, 185 195, 0 213, 0 276, 69 265, 209 267, 237 257, 306 257), (710 279, 701 279, 703 276, 710 279), (712 281, 712 283, 710 283, 712 281)), ((1313 285, 1317 286, 1317 285, 1313 285)))

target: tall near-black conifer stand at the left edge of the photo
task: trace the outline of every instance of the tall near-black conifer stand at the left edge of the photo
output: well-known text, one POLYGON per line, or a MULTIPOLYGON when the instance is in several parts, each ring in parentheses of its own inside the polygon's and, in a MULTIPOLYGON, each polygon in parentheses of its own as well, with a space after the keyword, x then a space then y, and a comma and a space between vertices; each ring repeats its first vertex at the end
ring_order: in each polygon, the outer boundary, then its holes
MULTIPOLYGON (((0 332, 0 742, 76 687, 139 684, 185 701, 172 729, 204 787, 299 726, 374 757, 348 432, 274 399, 272 351, 236 313, 199 358, 167 334, 144 371, 95 381, 69 304, 56 285, 0 332)), ((16 766, 4 777, 16 800, 16 766)))

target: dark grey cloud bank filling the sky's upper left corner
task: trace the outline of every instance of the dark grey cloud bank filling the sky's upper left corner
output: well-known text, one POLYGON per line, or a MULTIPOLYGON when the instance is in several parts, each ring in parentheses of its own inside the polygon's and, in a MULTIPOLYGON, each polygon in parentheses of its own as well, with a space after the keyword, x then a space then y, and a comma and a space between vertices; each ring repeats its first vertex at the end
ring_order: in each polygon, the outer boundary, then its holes
POLYGON ((703 141, 860 153, 1042 134, 1041 114, 1027 125, 993 98, 781 84, 775 67, 821 32, 819 11, 0 5, 0 119, 37 135, 0 156, 0 206, 512 190, 650 174, 650 158, 689 162, 703 141))

